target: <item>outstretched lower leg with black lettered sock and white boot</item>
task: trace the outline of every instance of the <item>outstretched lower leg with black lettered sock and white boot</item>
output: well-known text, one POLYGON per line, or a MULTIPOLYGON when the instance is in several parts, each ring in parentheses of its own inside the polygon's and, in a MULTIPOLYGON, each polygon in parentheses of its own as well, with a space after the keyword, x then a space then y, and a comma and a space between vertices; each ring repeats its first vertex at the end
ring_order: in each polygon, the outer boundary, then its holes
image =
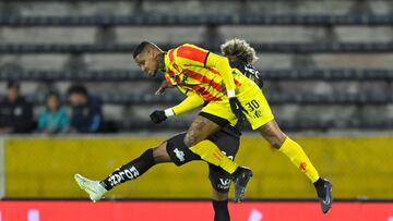
POLYGON ((155 164, 171 162, 166 146, 167 142, 164 142, 155 148, 147 149, 140 157, 116 169, 103 181, 91 181, 80 174, 75 174, 75 181, 82 189, 87 192, 93 201, 99 200, 107 191, 139 177, 155 164))

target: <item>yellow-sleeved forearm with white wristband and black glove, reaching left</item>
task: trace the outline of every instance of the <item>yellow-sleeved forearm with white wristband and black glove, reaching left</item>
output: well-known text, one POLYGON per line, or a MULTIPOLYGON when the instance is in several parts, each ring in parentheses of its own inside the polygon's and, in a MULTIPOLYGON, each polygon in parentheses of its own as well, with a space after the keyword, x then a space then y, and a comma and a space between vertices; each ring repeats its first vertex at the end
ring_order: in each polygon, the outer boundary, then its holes
POLYGON ((204 100, 196 95, 195 93, 187 93, 187 97, 179 105, 165 109, 165 110, 156 110, 150 116, 154 123, 160 123, 165 121, 167 118, 179 115, 191 111, 204 103, 204 100))

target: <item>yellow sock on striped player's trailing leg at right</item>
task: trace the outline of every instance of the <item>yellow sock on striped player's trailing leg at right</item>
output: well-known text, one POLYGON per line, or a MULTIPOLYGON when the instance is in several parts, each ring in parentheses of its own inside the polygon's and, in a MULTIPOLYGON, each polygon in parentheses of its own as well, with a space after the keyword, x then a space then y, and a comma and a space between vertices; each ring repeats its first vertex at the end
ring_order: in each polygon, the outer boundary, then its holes
POLYGON ((312 165, 300 145, 291 140, 289 137, 285 139, 283 146, 279 148, 279 151, 286 155, 289 160, 300 169, 301 172, 306 173, 312 183, 314 183, 320 177, 315 168, 312 165))

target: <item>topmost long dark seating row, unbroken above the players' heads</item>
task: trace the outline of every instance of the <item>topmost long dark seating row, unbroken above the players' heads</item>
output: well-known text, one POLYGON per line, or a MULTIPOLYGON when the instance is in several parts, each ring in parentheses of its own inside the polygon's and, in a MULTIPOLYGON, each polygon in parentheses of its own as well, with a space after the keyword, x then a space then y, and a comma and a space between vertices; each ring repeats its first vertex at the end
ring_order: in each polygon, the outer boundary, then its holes
POLYGON ((21 26, 195 26, 195 25, 391 25, 391 15, 128 15, 128 16, 8 16, 0 25, 21 26))

